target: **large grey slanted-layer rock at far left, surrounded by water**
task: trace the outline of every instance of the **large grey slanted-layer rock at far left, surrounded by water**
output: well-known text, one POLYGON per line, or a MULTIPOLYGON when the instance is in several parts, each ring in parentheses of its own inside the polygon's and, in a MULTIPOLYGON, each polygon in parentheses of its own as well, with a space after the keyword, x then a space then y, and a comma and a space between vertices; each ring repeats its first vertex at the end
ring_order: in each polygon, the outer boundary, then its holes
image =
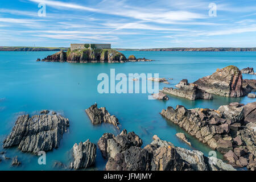
POLYGON ((20 115, 10 135, 4 140, 3 148, 18 146, 22 152, 50 151, 59 147, 69 120, 61 115, 20 115))

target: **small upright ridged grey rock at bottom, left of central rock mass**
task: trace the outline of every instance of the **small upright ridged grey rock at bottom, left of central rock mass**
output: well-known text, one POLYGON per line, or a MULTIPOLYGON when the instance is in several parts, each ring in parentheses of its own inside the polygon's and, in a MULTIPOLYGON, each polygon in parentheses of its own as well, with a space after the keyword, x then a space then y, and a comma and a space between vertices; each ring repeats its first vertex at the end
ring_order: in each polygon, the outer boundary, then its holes
POLYGON ((85 169, 93 166, 96 159, 96 144, 86 140, 86 142, 79 144, 75 143, 72 148, 73 161, 69 165, 74 169, 85 169))

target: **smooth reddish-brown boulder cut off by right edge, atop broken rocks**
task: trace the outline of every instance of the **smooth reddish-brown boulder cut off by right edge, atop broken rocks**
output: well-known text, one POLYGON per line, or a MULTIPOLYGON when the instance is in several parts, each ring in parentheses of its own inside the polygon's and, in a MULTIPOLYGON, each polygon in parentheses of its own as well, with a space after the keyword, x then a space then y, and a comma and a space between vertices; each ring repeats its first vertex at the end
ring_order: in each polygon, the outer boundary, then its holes
POLYGON ((243 113, 245 115, 245 123, 256 123, 256 102, 243 106, 243 113))

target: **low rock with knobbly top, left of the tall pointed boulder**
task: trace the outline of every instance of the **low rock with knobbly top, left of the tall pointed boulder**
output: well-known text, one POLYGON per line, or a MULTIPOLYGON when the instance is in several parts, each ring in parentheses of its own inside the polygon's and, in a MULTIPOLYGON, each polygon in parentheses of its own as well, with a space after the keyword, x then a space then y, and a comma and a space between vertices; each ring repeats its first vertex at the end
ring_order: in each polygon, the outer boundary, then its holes
POLYGON ((212 94, 199 89, 196 84, 188 84, 187 79, 181 80, 179 84, 175 86, 176 88, 179 88, 179 89, 164 87, 163 90, 161 91, 164 93, 172 94, 174 96, 187 98, 188 100, 197 100, 197 99, 212 100, 213 99, 212 94))

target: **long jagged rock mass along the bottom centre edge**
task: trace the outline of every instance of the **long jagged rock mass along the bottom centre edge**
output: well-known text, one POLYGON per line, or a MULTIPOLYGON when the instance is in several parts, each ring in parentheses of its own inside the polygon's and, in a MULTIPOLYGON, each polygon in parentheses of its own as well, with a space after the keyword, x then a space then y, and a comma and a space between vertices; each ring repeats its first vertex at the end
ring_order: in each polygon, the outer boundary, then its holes
MULTIPOLYGON (((111 171, 216 171, 235 170, 232 166, 221 168, 200 151, 175 147, 171 142, 154 135, 154 141, 141 148, 142 140, 133 132, 123 130, 116 137, 105 133, 98 141, 106 170, 111 171), (130 140, 129 140, 130 139, 130 140)), ((223 163, 223 162, 222 162, 223 163)), ((224 163, 223 163, 224 164, 224 163)), ((224 166, 224 165, 222 165, 224 166)))

